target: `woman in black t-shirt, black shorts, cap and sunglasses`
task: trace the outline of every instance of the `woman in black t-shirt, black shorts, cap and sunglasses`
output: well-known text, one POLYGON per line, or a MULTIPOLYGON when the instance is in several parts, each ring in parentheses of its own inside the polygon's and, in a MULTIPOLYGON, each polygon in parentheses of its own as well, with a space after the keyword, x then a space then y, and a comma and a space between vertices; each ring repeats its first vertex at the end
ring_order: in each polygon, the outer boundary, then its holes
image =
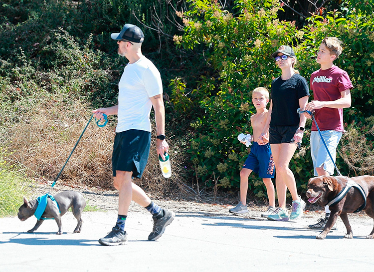
POLYGON ((275 221, 295 220, 303 215, 305 202, 297 193, 295 177, 289 163, 304 134, 306 117, 297 113, 308 103, 308 82, 294 69, 296 56, 290 46, 282 45, 272 54, 282 75, 271 84, 270 108, 263 134, 259 142, 267 142, 266 131, 269 129, 269 143, 275 164, 275 183, 279 208, 267 219, 275 221), (287 188, 292 195, 292 211, 286 210, 287 188))

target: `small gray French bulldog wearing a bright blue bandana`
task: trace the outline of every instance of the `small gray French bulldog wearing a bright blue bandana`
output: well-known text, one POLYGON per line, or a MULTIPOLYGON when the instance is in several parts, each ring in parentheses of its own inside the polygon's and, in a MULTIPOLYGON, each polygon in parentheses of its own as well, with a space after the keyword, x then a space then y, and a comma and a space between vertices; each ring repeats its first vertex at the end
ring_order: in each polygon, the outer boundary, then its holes
MULTIPOLYGON (((67 210, 71 207, 74 217, 77 219, 78 224, 75 228, 75 233, 80 233, 82 228, 83 220, 81 219, 82 212, 84 207, 86 207, 86 201, 84 200, 81 193, 74 192, 74 191, 64 191, 55 196, 53 196, 56 200, 58 206, 55 204, 53 200, 50 198, 47 199, 47 204, 45 207, 44 212, 41 215, 40 220, 38 220, 35 226, 27 231, 28 233, 32 233, 36 231, 40 225, 43 223, 44 219, 54 219, 58 225, 58 232, 57 234, 62 234, 61 231, 61 216, 63 216, 67 210)), ((20 221, 25 221, 27 218, 33 216, 35 211, 38 207, 37 200, 27 201, 25 197, 23 197, 23 205, 18 209, 18 218, 20 221)))

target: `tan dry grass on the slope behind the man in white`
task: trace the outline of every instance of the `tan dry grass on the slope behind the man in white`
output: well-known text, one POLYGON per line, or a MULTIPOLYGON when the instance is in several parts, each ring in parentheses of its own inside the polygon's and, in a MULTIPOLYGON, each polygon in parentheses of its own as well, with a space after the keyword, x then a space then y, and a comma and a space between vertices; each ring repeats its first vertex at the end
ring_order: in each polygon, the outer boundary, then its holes
MULTIPOLYGON (((26 169, 28 177, 54 180, 91 116, 87 103, 75 100, 67 104, 63 100, 46 98, 7 130, 4 138, 7 149, 12 151, 8 159, 26 169)), ((111 156, 116 120, 112 116, 109 118, 110 122, 103 128, 98 127, 94 119, 91 121, 58 183, 112 188, 111 156)), ((172 151, 173 142, 169 144, 172 151)), ((171 154, 173 176, 164 179, 155 146, 152 142, 143 178, 135 182, 157 196, 186 192, 184 169, 180 167, 182 156, 171 154)))

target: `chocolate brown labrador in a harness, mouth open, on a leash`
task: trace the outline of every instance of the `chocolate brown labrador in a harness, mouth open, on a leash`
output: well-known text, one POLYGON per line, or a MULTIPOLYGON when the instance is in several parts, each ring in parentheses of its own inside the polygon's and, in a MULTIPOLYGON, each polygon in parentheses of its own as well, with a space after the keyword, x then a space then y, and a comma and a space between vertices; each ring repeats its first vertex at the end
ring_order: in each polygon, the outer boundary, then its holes
MULTIPOLYGON (((350 180, 359 184, 364 190, 365 195, 367 196, 367 203, 363 210, 367 215, 374 219, 374 176, 360 176, 353 178, 343 176, 320 176, 311 178, 308 181, 308 191, 306 193, 308 201, 310 203, 319 202, 322 206, 326 206, 346 187, 350 180)), ((340 202, 330 206, 330 218, 323 231, 317 235, 316 238, 325 239, 326 235, 330 232, 338 219, 338 216, 340 216, 347 228, 347 234, 344 238, 353 238, 352 228, 348 221, 347 214, 355 212, 363 204, 363 195, 360 193, 359 189, 352 187, 340 202)), ((374 239, 374 228, 366 238, 374 239)))

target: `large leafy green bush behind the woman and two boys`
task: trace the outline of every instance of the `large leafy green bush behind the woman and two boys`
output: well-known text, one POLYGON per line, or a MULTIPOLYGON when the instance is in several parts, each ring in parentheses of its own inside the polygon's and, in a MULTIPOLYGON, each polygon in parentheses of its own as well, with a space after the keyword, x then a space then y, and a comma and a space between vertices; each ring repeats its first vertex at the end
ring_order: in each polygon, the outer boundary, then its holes
MULTIPOLYGON (((336 64, 348 71, 355 86, 353 106, 344 111, 345 120, 363 126, 365 118, 373 114, 374 20, 364 15, 366 11, 342 6, 342 12, 329 12, 326 17, 314 15, 308 25, 298 29, 294 22, 277 19, 277 11, 282 9, 279 0, 236 0, 232 13, 222 10, 216 1, 188 2, 188 11, 181 14, 185 33, 175 36, 176 44, 190 50, 196 47, 200 50, 203 45, 202 54, 213 72, 201 77, 194 92, 187 92, 183 80, 174 80, 172 101, 183 111, 182 103, 197 100, 203 111, 190 124, 187 152, 191 171, 206 184, 213 185, 214 179, 219 179, 223 187, 239 186, 239 170, 247 151, 236 136, 251 132, 248 121, 255 109, 250 102, 250 91, 259 86, 270 89, 272 79, 280 74, 270 54, 281 44, 294 47, 297 68, 309 79, 319 68, 315 55, 322 39, 338 36, 345 48, 336 64)), ((347 4, 354 2, 357 1, 347 4)), ((309 121, 307 129, 310 126, 309 121)), ((301 192, 313 175, 309 133, 305 134, 303 145, 304 149, 290 163, 301 192)), ((350 174, 343 164, 338 158, 341 172, 350 174)), ((257 196, 263 195, 265 189, 256 178, 249 188, 257 196)))

